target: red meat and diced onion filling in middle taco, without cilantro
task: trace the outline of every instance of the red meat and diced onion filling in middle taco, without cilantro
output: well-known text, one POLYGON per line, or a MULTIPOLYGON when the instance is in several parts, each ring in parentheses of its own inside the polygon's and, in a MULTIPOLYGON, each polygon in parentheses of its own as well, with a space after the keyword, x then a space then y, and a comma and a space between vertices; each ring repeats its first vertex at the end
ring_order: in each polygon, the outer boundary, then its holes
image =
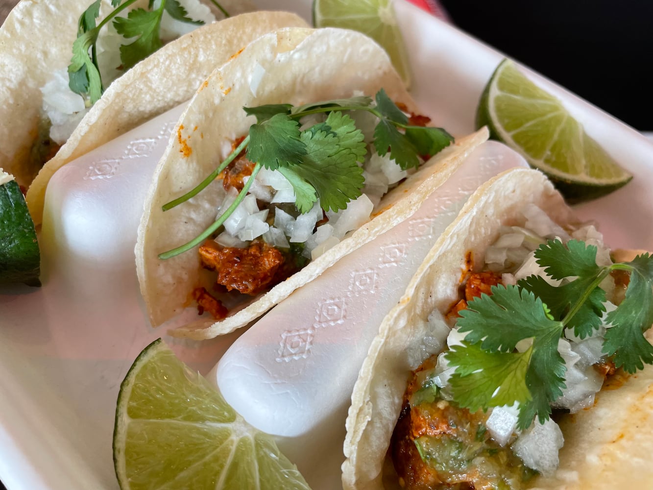
MULTIPOLYGON (((389 154, 381 157, 376 153, 371 141, 377 118, 367 113, 345 113, 356 120, 357 128, 368 142, 362 163, 365 178, 362 195, 338 212, 323 211, 318 200, 310 212, 301 214, 295 208, 295 192, 285 176, 276 170, 261 169, 223 228, 199 248, 202 267, 217 272, 216 291, 238 291, 244 295, 268 291, 368 222, 389 189, 414 171, 402 171, 389 154)), ((305 125, 325 118, 313 116, 305 125)), ((410 114, 410 120, 422 126, 430 122, 426 116, 415 114, 410 114)), ((231 151, 242 140, 236 139, 231 151)), ((221 193, 222 203, 217 216, 235 201, 251 178, 254 165, 242 152, 219 174, 222 186, 217 192, 221 193)), ((201 297, 210 305, 205 307, 198 301, 200 314, 207 311, 215 319, 227 316, 227 308, 221 307, 212 291, 198 288, 193 297, 201 297)))

